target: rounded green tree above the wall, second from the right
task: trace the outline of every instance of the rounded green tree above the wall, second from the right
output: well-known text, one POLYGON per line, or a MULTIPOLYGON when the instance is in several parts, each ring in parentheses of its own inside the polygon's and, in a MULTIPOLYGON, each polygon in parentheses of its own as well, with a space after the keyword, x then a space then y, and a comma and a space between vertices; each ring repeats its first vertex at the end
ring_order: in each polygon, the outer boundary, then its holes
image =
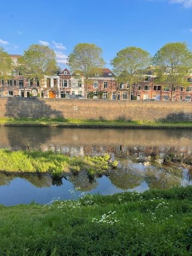
MULTIPOLYGON (((129 83, 129 99, 135 83, 140 81, 143 70, 149 67, 150 54, 138 47, 126 47, 117 52, 111 60, 113 71, 117 75, 117 82, 129 83)), ((134 93, 134 90, 133 90, 134 93)))

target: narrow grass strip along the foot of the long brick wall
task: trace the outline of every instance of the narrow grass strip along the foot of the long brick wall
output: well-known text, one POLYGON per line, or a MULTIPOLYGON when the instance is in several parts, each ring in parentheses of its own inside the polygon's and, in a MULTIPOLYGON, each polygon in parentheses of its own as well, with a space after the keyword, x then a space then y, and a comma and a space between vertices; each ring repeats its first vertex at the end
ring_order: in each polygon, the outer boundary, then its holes
POLYGON ((192 127, 192 122, 173 121, 124 121, 124 120, 83 120, 83 119, 63 119, 63 118, 0 118, 0 125, 54 125, 54 126, 126 126, 126 127, 192 127))

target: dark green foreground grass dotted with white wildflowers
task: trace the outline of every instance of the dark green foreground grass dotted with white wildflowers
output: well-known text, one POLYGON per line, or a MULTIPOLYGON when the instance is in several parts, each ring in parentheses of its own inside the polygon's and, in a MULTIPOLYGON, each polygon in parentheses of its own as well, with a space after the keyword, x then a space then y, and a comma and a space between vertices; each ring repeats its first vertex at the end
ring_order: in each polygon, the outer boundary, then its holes
POLYGON ((192 187, 1 206, 0 255, 192 255, 191 210, 192 187))

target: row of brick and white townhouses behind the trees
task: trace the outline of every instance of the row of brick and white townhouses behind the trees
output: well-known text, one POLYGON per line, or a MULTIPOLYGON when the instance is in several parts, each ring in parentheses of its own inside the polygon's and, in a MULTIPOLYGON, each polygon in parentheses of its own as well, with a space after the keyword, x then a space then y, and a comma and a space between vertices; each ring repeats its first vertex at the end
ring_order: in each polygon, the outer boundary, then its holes
MULTIPOLYGON (((11 55, 15 67, 19 55, 11 55)), ((191 101, 192 76, 187 79, 187 86, 173 88, 173 100, 191 101)), ((0 81, 0 94, 21 97, 73 98, 79 97, 109 100, 162 100, 171 99, 169 83, 158 84, 153 74, 143 75, 141 81, 130 88, 129 83, 117 82, 113 72, 104 68, 89 78, 85 86, 81 74, 70 74, 65 68, 55 76, 44 76, 42 81, 23 77, 17 69, 12 79, 0 81)))

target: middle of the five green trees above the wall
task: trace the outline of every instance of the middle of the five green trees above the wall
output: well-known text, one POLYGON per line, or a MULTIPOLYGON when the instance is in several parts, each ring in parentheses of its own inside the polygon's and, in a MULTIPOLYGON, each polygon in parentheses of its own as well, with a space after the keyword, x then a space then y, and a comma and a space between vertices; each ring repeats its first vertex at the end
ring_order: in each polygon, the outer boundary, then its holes
POLYGON ((95 44, 79 43, 74 46, 68 57, 68 66, 71 71, 80 71, 84 76, 85 98, 87 98, 89 78, 100 72, 105 61, 102 58, 102 50, 95 44))

